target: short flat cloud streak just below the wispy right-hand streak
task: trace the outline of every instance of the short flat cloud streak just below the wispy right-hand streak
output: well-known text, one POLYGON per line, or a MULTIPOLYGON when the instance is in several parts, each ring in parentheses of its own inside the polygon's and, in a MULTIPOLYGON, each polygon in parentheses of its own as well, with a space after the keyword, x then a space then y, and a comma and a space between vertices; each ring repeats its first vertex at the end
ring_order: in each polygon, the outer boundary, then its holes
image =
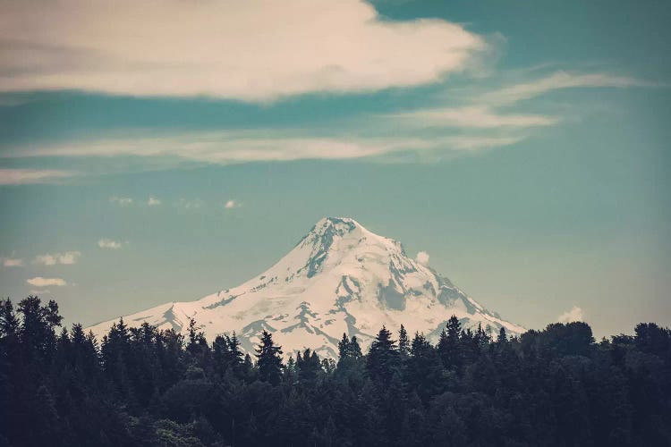
POLYGON ((458 127, 472 129, 528 128, 549 126, 558 122, 554 116, 540 114, 500 114, 485 105, 418 109, 402 114, 383 115, 402 124, 458 127))

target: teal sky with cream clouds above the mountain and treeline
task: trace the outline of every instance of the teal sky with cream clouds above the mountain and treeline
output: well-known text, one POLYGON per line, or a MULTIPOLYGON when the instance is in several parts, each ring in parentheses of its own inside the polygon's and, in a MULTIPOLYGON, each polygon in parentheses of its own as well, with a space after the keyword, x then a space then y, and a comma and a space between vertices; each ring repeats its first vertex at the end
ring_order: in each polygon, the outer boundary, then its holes
POLYGON ((671 325, 671 5, 0 0, 0 294, 92 325, 324 216, 528 328, 671 325))

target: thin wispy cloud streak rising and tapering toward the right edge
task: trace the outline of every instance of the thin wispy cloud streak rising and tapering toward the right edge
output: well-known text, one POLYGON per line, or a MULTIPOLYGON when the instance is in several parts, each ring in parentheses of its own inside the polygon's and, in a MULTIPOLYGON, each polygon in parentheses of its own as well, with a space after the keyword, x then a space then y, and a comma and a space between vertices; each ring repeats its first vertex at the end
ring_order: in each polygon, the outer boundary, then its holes
POLYGON ((553 90, 575 88, 656 87, 658 84, 608 73, 554 72, 538 80, 522 82, 485 93, 480 100, 493 105, 511 105, 553 90))

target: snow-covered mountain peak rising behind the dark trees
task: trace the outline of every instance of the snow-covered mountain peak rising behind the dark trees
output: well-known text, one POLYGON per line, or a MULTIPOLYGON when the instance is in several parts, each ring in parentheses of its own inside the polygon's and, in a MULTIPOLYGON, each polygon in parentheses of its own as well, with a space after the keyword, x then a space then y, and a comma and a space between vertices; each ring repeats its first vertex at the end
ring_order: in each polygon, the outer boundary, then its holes
MULTIPOLYGON (((479 324, 496 334, 524 332, 457 289, 446 277, 408 257, 395 240, 369 232, 351 218, 321 219, 275 266, 247 283, 197 301, 166 303, 124 316, 127 325, 148 322, 186 333, 189 318, 209 341, 235 333, 253 352, 263 330, 285 353, 308 347, 336 358, 343 333, 366 349, 382 325, 419 331, 437 342, 447 319, 479 324)), ((102 336, 117 320, 90 329, 102 336)))

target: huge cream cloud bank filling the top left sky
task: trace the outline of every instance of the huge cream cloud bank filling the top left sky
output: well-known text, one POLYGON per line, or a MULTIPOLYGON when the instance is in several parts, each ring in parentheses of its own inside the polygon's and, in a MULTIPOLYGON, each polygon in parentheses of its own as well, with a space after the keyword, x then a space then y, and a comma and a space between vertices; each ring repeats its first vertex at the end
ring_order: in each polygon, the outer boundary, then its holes
POLYGON ((427 84, 487 48, 459 24, 389 21, 363 0, 14 1, 0 30, 4 91, 244 101, 427 84))

